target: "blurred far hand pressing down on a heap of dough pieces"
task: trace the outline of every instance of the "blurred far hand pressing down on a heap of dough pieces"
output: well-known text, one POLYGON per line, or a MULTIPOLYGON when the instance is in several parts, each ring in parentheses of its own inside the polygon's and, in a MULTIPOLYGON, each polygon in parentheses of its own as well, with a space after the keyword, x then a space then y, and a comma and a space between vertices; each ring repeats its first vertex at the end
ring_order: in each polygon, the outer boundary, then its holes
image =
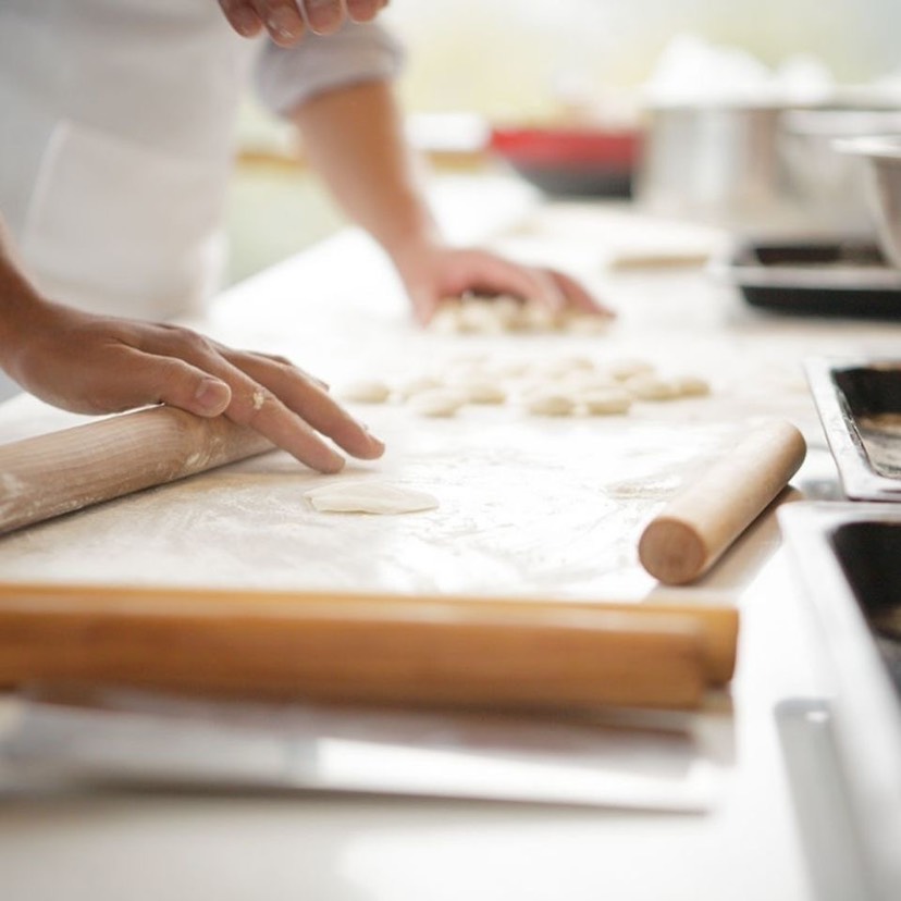
POLYGON ((545 267, 523 266, 487 250, 434 246, 407 251, 398 270, 420 323, 428 324, 442 300, 467 292, 513 295, 548 309, 612 317, 575 279, 545 267))

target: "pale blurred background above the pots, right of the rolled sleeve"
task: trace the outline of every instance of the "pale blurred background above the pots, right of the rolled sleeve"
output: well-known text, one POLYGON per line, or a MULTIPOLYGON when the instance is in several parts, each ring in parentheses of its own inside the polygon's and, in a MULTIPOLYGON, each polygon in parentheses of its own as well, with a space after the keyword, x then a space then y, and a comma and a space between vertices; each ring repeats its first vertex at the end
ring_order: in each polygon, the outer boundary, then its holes
POLYGON ((560 96, 641 85, 680 33, 777 66, 816 57, 842 83, 901 67, 896 0, 392 0, 411 109, 552 114, 560 96))

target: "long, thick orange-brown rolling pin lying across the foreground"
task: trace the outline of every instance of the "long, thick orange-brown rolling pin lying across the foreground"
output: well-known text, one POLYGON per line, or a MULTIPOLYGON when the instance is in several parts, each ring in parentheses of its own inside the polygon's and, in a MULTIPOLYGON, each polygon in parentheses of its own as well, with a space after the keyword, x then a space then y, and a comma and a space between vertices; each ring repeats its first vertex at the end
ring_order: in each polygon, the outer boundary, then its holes
MULTIPOLYGON (((733 653, 733 650, 732 650, 733 653)), ((0 587, 0 683, 496 708, 696 707, 703 620, 532 601, 0 587)))

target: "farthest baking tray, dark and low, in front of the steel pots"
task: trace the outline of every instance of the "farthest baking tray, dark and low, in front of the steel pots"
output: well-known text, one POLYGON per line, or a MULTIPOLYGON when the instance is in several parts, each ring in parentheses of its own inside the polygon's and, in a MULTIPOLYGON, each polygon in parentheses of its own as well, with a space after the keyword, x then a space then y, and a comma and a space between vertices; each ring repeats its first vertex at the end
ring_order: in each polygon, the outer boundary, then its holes
POLYGON ((753 307, 901 319, 901 271, 866 242, 746 242, 733 255, 729 274, 753 307))

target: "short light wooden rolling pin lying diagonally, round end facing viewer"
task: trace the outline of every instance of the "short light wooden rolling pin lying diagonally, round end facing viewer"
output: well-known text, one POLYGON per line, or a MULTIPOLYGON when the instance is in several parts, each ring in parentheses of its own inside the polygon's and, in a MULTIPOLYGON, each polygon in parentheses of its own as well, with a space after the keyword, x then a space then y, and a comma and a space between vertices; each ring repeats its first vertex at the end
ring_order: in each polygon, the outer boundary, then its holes
POLYGON ((805 454, 790 422, 755 429, 647 524, 639 541, 644 568, 671 585, 702 576, 786 487, 805 454))

